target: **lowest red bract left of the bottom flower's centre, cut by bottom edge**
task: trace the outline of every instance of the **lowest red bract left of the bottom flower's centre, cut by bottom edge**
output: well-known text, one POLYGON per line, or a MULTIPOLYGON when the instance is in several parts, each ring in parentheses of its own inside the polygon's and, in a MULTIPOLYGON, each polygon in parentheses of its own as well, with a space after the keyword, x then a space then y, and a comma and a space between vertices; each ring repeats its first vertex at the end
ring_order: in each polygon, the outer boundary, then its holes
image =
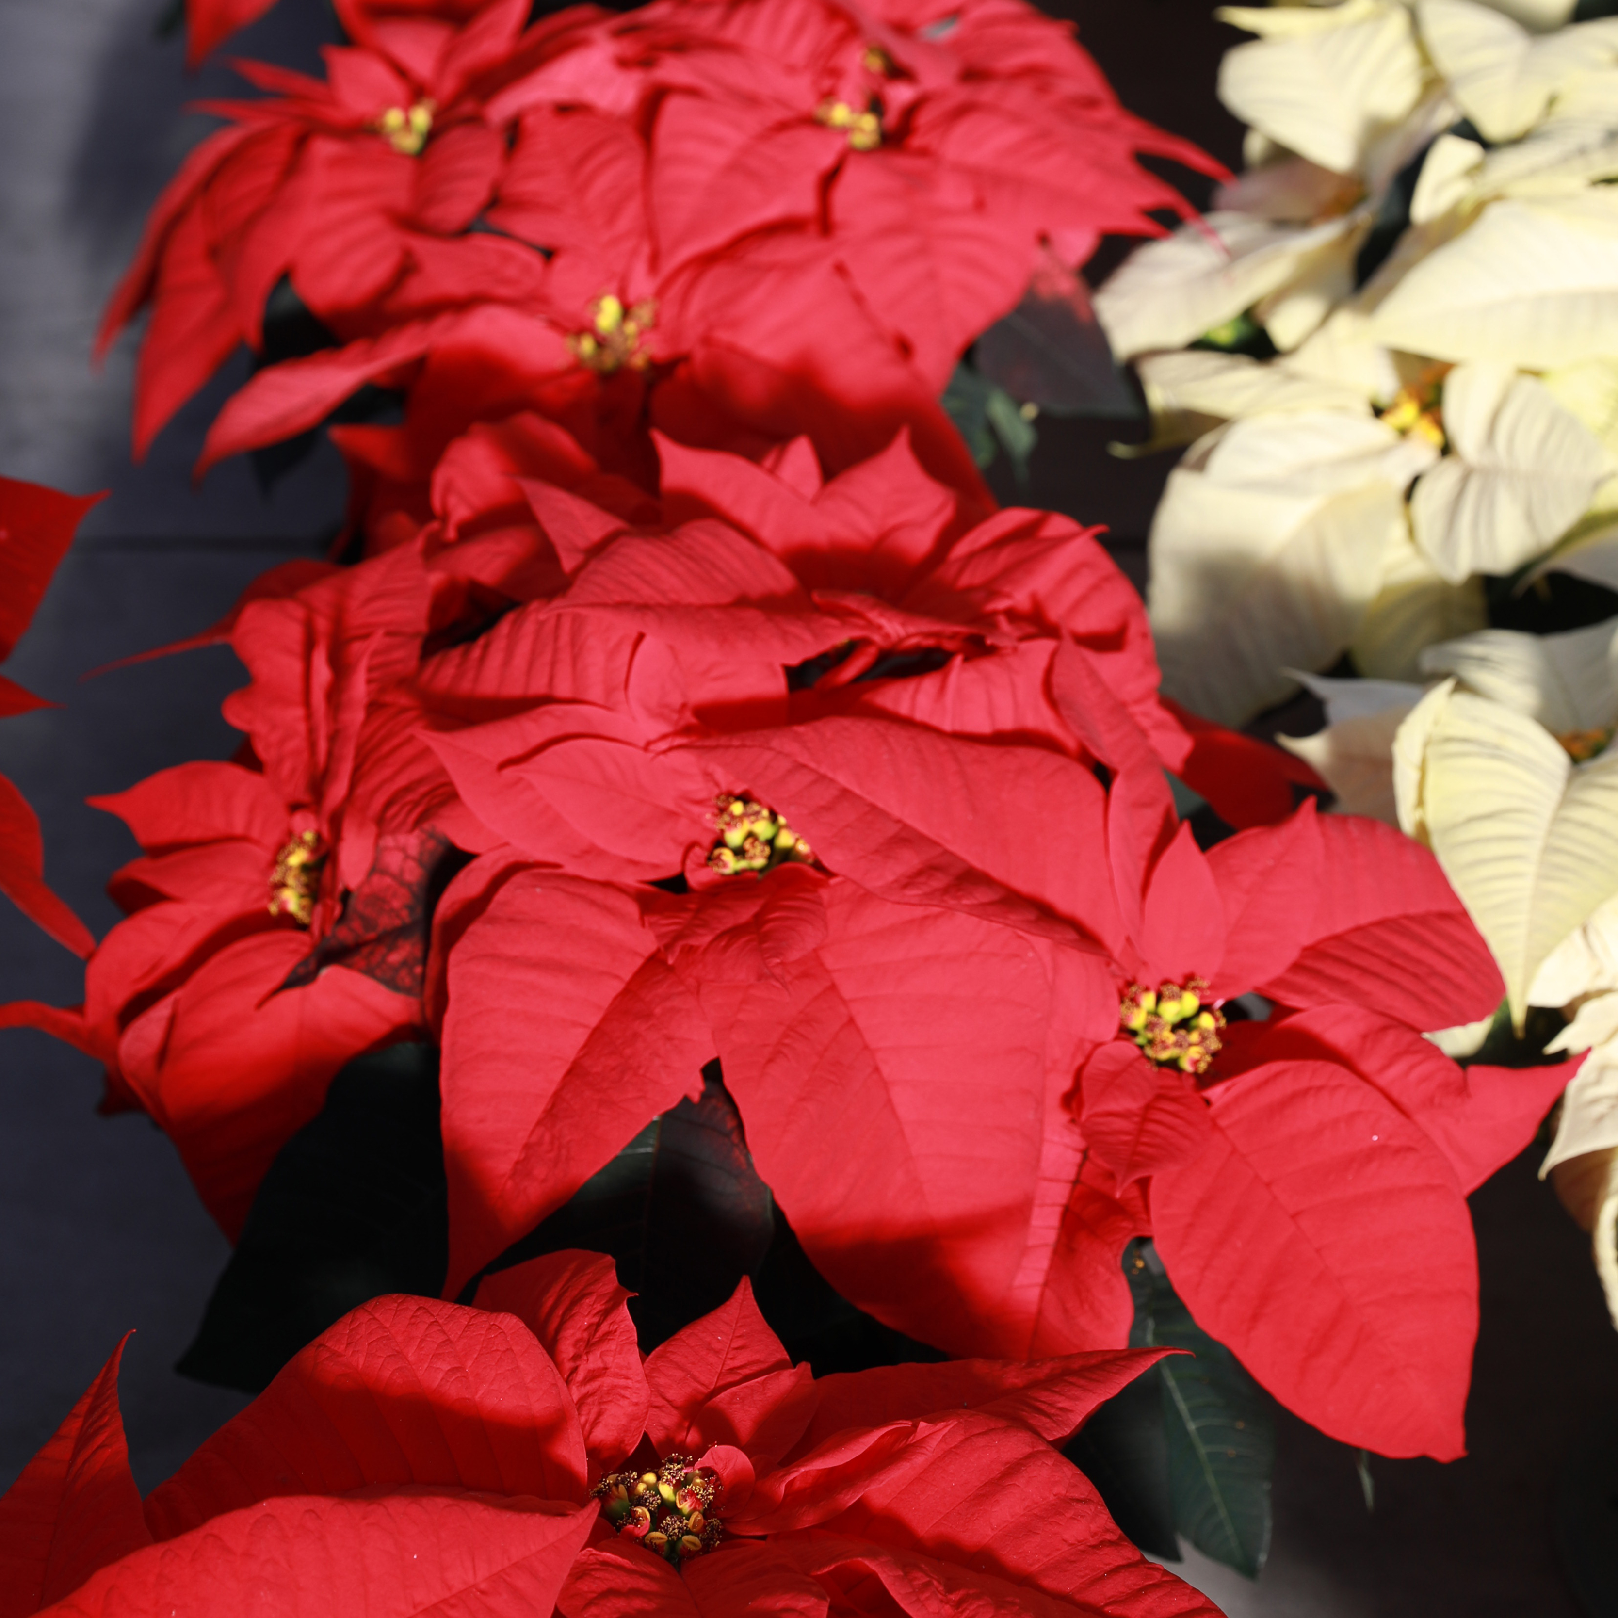
POLYGON ((47 1612, 549 1613, 594 1521, 594 1506, 555 1514, 460 1490, 265 1500, 126 1557, 47 1612))

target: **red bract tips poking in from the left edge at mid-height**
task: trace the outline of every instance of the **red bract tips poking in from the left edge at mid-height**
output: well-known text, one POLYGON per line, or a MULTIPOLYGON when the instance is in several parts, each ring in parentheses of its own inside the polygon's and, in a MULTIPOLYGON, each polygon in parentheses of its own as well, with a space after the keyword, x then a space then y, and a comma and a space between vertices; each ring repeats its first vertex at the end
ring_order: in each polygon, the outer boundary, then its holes
MULTIPOLYGON (((73 534, 102 495, 79 498, 0 477, 0 662, 8 659, 34 620, 73 534)), ((0 675, 0 718, 45 707, 32 691, 0 675)), ((39 817, 0 775, 0 893, 74 955, 95 940, 78 916, 45 887, 45 851, 39 817)))

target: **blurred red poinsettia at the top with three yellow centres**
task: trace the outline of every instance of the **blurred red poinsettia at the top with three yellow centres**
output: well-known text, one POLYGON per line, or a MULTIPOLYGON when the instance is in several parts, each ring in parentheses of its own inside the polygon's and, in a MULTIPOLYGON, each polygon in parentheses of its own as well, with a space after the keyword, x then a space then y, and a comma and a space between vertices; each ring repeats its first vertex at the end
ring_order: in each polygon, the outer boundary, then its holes
POLYGON ((1217 170, 1013 0, 578 8, 519 40, 524 10, 489 0, 455 32, 367 8, 328 84, 244 68, 282 97, 215 108, 235 128, 170 186, 108 311, 107 337, 155 301, 138 445, 257 346, 290 275, 346 346, 256 377, 204 464, 427 361, 466 421, 650 409, 749 451, 807 432, 838 468, 909 424, 976 487, 937 403, 964 348, 1036 272, 1081 298, 1100 233, 1183 209, 1136 152, 1217 170))

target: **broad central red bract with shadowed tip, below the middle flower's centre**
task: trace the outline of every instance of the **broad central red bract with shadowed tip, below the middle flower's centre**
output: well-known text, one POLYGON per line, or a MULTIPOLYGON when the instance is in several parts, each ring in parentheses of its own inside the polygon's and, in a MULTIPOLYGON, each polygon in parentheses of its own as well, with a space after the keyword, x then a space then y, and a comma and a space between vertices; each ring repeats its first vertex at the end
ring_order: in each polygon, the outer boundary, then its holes
POLYGON ((843 880, 822 901, 824 945, 704 989, 759 1171, 862 1309, 958 1353, 1024 1354, 1078 1167, 1073 1024, 1092 1003, 1115 1019, 1110 982, 955 911, 843 880))

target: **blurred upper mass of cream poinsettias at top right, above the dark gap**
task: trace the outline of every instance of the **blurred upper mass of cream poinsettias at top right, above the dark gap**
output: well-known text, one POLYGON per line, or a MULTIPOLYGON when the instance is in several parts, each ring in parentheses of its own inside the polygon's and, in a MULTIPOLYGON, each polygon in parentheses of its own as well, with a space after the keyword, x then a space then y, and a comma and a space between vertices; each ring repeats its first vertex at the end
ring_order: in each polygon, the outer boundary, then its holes
MULTIPOLYGON (((1196 440, 1150 536, 1189 707, 1246 722, 1345 652, 1417 680, 1487 578, 1618 586, 1618 19, 1571 11, 1220 11, 1247 172, 1095 296, 1154 442, 1196 440)), ((1341 777, 1385 728, 1314 751, 1341 777)))

